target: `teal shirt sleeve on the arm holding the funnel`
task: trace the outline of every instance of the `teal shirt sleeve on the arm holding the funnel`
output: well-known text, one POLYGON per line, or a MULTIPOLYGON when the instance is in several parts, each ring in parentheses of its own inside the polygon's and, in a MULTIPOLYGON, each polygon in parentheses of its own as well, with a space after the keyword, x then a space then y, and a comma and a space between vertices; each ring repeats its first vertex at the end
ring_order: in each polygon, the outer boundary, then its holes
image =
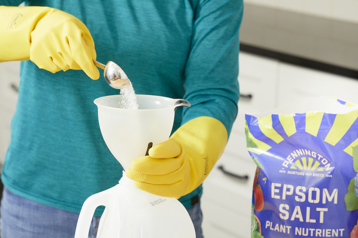
POLYGON ((228 132, 239 100, 238 55, 242 0, 203 0, 194 9, 192 44, 185 66, 182 125, 199 116, 221 121, 228 132))

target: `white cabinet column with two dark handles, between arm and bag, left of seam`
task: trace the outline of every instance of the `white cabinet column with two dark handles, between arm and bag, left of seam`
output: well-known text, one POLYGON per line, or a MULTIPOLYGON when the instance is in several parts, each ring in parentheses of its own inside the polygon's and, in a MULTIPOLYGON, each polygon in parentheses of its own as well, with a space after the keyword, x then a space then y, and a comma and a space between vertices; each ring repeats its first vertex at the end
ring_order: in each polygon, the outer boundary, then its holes
POLYGON ((270 111, 276 107, 277 60, 240 53, 241 97, 224 154, 203 184, 202 211, 205 238, 251 236, 251 201, 256 164, 246 150, 245 114, 270 111), (251 98, 248 97, 251 95, 251 98), (227 172, 248 179, 224 174, 227 172))

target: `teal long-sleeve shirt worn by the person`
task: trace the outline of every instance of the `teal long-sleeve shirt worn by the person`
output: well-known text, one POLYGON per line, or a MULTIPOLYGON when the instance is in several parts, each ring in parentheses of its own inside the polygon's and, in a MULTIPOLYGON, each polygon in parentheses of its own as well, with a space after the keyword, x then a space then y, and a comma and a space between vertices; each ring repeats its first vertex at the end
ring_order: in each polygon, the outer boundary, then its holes
MULTIPOLYGON (((21 0, 0 0, 17 6, 21 0)), ((137 94, 184 98, 173 131, 199 116, 231 131, 237 114, 242 0, 29 0, 68 12, 88 27, 97 60, 122 67, 137 94)), ((79 213, 92 194, 115 186, 122 168, 108 151, 97 97, 119 94, 80 70, 52 74, 21 63, 19 98, 1 179, 10 191, 79 213), (85 87, 83 85, 86 85, 85 87)), ((186 208, 199 186, 179 199, 186 208)), ((101 214, 98 209, 96 216, 101 214)))

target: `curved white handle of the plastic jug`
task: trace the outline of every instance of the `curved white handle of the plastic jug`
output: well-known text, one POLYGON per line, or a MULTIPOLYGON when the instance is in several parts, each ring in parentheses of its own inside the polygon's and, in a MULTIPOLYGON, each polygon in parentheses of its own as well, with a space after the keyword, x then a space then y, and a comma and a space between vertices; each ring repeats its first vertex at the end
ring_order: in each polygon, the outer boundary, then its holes
POLYGON ((89 227, 91 226, 92 217, 96 208, 98 206, 105 206, 103 200, 108 198, 106 191, 107 190, 93 194, 84 201, 81 212, 79 213, 74 238, 88 238, 89 227))

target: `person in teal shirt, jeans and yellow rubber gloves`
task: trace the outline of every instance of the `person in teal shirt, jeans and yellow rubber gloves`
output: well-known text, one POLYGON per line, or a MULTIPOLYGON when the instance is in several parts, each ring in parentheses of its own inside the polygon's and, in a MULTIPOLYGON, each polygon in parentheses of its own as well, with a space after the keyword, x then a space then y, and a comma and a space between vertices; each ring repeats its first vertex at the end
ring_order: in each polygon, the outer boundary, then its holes
POLYGON ((0 61, 22 61, 1 173, 1 237, 73 237, 83 202, 118 183, 122 168, 103 141, 93 100, 120 92, 92 59, 118 64, 137 94, 191 103, 176 111, 171 138, 126 175, 147 192, 178 198, 203 237, 201 184, 237 115, 243 2, 21 1, 0 0, 0 61), (158 161, 167 169, 155 171, 158 161))

